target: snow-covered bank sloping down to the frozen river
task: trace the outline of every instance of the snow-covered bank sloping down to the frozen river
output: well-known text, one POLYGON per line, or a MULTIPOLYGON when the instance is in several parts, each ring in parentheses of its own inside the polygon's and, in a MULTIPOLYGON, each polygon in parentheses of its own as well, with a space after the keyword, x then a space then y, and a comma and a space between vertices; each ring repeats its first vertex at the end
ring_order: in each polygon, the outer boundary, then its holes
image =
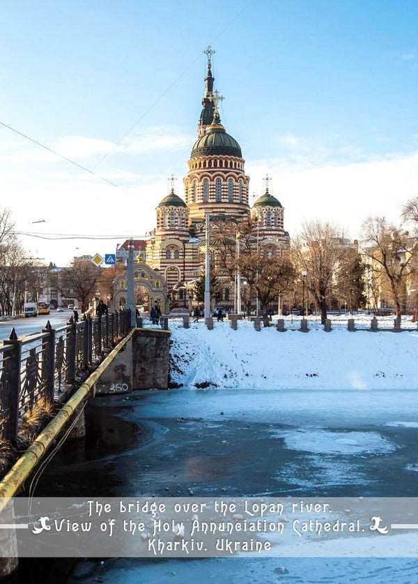
POLYGON ((171 380, 240 389, 418 389, 418 331, 279 333, 171 320, 171 380))

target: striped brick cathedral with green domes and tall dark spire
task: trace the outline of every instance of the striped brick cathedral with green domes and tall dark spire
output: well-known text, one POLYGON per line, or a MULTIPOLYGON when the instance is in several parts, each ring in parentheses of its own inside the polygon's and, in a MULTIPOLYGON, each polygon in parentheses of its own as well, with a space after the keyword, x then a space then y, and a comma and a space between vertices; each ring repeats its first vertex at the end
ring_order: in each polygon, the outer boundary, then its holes
MULTIPOLYGON (((171 192, 156 209, 156 227, 146 242, 146 263, 162 273, 167 283, 171 307, 189 306, 193 283, 202 274, 205 251, 206 214, 225 216, 226 220, 258 220, 256 244, 261 253, 274 256, 288 248, 290 238, 284 230, 284 208, 269 193, 249 205, 249 176, 240 144, 226 132, 219 117, 222 96, 214 89, 210 47, 207 56, 202 110, 196 142, 187 161, 183 179, 184 198, 178 196, 171 181, 171 192)), ((212 246, 211 246, 212 253, 212 246)), ((215 250, 216 253, 216 250, 215 250)), ((233 281, 224 278, 217 304, 233 306, 233 281)))

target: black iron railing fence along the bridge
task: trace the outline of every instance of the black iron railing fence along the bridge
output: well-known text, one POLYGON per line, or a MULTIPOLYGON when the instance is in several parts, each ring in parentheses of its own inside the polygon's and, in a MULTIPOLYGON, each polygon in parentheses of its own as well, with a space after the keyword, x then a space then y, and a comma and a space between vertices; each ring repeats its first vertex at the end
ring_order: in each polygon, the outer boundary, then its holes
POLYGON ((0 438, 14 442, 24 417, 38 403, 48 407, 64 384, 75 384, 131 329, 130 310, 86 317, 17 338, 0 346, 0 438))

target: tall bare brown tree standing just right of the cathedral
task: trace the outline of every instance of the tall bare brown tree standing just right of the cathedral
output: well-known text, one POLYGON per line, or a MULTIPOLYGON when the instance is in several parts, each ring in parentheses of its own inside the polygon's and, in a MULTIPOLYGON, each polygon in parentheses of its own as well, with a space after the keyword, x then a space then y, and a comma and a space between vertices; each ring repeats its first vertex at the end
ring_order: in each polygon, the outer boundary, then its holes
POLYGON ((295 240, 293 255, 299 267, 307 271, 307 287, 320 309, 322 322, 327 318, 327 297, 346 255, 344 232, 331 223, 309 221, 295 240))

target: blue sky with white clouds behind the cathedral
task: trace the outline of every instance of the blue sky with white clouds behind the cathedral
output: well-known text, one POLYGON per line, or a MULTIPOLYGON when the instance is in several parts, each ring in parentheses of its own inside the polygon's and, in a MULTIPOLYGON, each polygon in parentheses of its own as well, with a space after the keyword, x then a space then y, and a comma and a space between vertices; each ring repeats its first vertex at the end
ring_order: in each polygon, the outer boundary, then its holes
MULTIPOLYGON (((418 194, 416 1, 3 0, 0 27, 0 121, 125 189, 0 128, 1 204, 22 230, 34 202, 45 232, 84 233, 98 208, 108 234, 152 228, 171 172, 182 194, 209 43, 251 192, 272 175, 291 234, 316 214, 355 237, 365 216, 395 217, 418 194)), ((25 243, 48 260, 74 255, 25 243)))

